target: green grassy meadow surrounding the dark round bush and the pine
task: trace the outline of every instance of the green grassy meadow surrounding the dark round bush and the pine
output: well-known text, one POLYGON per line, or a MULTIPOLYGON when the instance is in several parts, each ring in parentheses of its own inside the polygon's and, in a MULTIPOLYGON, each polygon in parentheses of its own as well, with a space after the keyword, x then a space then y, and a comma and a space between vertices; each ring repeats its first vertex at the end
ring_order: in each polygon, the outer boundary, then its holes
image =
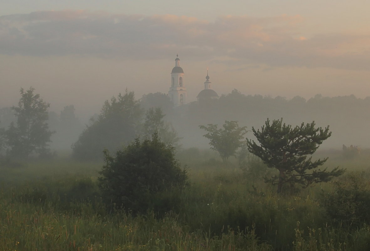
POLYGON ((282 196, 254 157, 223 164, 212 151, 183 150, 189 185, 179 206, 142 215, 102 202, 103 163, 2 160, 0 251, 370 250, 370 151, 314 157, 326 156, 328 169, 347 172, 282 196))

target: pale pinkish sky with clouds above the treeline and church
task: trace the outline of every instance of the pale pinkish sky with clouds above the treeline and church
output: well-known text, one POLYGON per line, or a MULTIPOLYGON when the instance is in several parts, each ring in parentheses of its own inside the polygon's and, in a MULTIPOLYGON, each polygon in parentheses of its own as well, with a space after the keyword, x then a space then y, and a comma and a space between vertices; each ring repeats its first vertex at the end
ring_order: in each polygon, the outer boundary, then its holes
POLYGON ((207 68, 219 95, 370 96, 369 1, 0 4, 0 107, 30 86, 51 110, 90 115, 126 88, 168 93, 176 54, 189 101, 207 68))

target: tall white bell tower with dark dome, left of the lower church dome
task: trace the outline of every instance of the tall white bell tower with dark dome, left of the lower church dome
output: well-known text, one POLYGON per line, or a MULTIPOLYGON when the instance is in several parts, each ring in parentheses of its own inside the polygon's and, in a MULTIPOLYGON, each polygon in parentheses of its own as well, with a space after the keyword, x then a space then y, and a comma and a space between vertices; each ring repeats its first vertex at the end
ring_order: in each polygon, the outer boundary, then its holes
POLYGON ((171 87, 169 87, 168 95, 175 107, 187 104, 184 70, 180 67, 179 55, 176 55, 175 67, 171 72, 171 87))

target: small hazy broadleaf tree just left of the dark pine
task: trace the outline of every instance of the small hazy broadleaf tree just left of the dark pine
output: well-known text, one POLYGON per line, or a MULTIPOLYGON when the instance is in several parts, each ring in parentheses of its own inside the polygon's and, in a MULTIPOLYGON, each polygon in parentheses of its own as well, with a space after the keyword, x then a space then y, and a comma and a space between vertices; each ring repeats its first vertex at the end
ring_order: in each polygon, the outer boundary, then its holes
POLYGON ((243 144, 243 136, 247 133, 247 127, 239 127, 238 121, 225 120, 223 128, 220 129, 217 128, 217 124, 199 125, 199 127, 208 132, 203 137, 210 140, 211 149, 218 151, 223 162, 235 155, 236 150, 243 144))

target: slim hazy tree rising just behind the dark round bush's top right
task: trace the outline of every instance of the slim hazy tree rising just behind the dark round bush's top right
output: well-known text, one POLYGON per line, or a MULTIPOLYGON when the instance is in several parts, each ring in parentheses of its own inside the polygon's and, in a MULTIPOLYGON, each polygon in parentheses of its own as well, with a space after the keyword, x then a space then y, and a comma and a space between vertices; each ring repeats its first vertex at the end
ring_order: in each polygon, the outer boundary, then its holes
POLYGON ((145 113, 145 121, 143 125, 144 137, 151 137, 158 132, 158 137, 165 143, 171 143, 178 146, 180 138, 174 127, 170 123, 164 121, 165 114, 162 113, 161 108, 149 108, 145 113))

